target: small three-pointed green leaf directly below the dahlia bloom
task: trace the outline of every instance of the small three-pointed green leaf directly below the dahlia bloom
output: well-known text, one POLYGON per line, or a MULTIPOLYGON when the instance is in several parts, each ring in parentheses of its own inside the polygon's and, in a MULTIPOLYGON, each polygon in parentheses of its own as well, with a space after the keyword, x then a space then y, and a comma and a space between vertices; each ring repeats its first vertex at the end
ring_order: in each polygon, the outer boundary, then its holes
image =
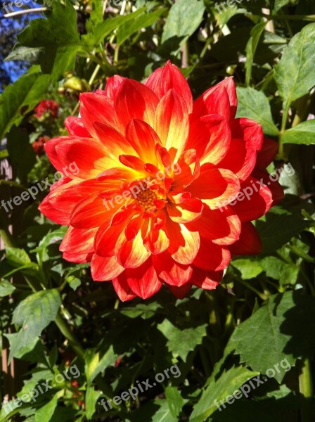
POLYGON ((203 337, 206 335, 207 324, 196 327, 179 329, 174 326, 168 319, 158 324, 158 330, 167 338, 167 348, 175 356, 180 356, 186 361, 189 352, 195 350, 203 337))

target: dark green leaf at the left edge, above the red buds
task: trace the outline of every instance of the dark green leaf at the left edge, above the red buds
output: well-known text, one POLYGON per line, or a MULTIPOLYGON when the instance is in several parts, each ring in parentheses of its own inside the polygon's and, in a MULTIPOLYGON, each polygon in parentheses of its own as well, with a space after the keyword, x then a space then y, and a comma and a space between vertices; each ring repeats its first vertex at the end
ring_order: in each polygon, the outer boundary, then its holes
POLYGON ((32 73, 21 76, 0 96, 0 139, 13 124, 20 124, 25 114, 47 95, 48 75, 32 73))

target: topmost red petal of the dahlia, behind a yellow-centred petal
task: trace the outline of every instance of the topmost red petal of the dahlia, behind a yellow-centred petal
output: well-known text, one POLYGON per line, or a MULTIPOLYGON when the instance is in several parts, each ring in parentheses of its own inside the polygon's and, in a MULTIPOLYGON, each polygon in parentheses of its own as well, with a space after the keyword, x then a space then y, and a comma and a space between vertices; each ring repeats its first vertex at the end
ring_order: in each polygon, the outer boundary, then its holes
POLYGON ((184 98, 188 113, 192 112, 193 96, 191 95, 191 89, 179 68, 170 61, 167 62, 164 68, 155 70, 144 83, 155 92, 159 99, 165 96, 169 89, 174 89, 184 98))

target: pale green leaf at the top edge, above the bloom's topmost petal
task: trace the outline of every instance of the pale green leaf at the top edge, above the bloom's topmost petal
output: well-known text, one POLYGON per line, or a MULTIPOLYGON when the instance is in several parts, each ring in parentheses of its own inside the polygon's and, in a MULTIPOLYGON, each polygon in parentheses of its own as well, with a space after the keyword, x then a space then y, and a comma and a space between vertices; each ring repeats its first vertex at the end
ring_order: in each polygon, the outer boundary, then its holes
POLYGON ((177 40, 172 45, 179 50, 186 39, 198 29, 203 20, 205 4, 201 0, 178 0, 169 10, 169 15, 162 33, 162 44, 177 40))

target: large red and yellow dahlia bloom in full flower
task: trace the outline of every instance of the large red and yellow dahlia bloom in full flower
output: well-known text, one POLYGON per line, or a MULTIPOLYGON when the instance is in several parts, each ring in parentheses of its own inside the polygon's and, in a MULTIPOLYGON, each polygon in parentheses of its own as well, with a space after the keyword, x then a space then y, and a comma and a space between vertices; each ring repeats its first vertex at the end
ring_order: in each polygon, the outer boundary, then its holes
POLYGON ((111 77, 80 103, 69 136, 45 143, 65 177, 39 209, 69 226, 65 260, 91 262, 93 279, 113 280, 121 300, 162 284, 184 298, 192 285, 216 288, 231 254, 260 252, 251 221, 281 199, 265 170, 277 145, 235 118, 232 78, 193 101, 169 62, 143 84, 111 77))

